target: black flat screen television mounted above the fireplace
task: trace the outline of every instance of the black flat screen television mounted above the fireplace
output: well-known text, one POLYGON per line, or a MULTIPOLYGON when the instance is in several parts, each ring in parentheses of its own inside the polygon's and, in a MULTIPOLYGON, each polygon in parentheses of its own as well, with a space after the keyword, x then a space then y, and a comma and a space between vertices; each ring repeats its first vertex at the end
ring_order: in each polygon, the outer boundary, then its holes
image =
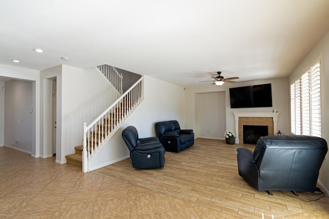
POLYGON ((231 108, 272 107, 271 84, 230 88, 231 108))

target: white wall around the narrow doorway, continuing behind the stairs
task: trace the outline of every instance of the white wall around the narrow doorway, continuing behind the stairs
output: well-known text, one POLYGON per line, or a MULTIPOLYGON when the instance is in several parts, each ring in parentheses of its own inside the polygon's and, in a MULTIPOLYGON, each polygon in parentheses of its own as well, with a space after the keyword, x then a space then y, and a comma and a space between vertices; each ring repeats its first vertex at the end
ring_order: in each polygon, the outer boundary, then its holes
POLYGON ((82 145, 83 123, 90 123, 117 98, 117 92, 96 69, 60 65, 41 71, 42 155, 51 156, 52 79, 57 80, 56 163, 82 145))

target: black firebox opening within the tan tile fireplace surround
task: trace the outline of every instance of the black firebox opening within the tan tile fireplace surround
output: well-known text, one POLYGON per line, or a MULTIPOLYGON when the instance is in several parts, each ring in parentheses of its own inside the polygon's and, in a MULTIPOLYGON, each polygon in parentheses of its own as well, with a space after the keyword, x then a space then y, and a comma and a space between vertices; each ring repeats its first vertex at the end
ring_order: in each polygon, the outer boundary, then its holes
POLYGON ((243 144, 255 145, 261 136, 268 135, 268 126, 243 125, 243 144))

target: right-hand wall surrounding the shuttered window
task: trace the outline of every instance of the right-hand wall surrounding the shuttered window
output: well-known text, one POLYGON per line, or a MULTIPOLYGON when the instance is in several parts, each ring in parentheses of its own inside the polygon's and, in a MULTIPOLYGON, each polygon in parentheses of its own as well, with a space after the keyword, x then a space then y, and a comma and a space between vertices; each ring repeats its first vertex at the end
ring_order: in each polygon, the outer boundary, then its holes
MULTIPOLYGON (((315 47, 306 55, 303 61, 297 66, 293 74, 289 77, 289 85, 305 72, 314 59, 321 55, 321 131, 322 137, 329 140, 329 31, 320 39, 315 47)), ((319 184, 329 196, 329 155, 320 169, 319 184)))

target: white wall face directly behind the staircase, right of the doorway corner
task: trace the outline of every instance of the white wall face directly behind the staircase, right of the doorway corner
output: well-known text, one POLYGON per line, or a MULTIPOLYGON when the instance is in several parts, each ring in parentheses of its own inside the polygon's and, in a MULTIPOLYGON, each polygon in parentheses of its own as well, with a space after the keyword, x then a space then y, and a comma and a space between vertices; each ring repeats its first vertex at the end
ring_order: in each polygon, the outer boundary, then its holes
MULTIPOLYGON (((58 80, 57 80, 58 83, 58 80)), ((57 87, 59 89, 59 87, 57 87)), ((57 89, 57 92, 59 90, 57 89)), ((61 162, 82 145, 83 123, 93 122, 119 95, 96 69, 63 65, 62 69, 61 162)))

